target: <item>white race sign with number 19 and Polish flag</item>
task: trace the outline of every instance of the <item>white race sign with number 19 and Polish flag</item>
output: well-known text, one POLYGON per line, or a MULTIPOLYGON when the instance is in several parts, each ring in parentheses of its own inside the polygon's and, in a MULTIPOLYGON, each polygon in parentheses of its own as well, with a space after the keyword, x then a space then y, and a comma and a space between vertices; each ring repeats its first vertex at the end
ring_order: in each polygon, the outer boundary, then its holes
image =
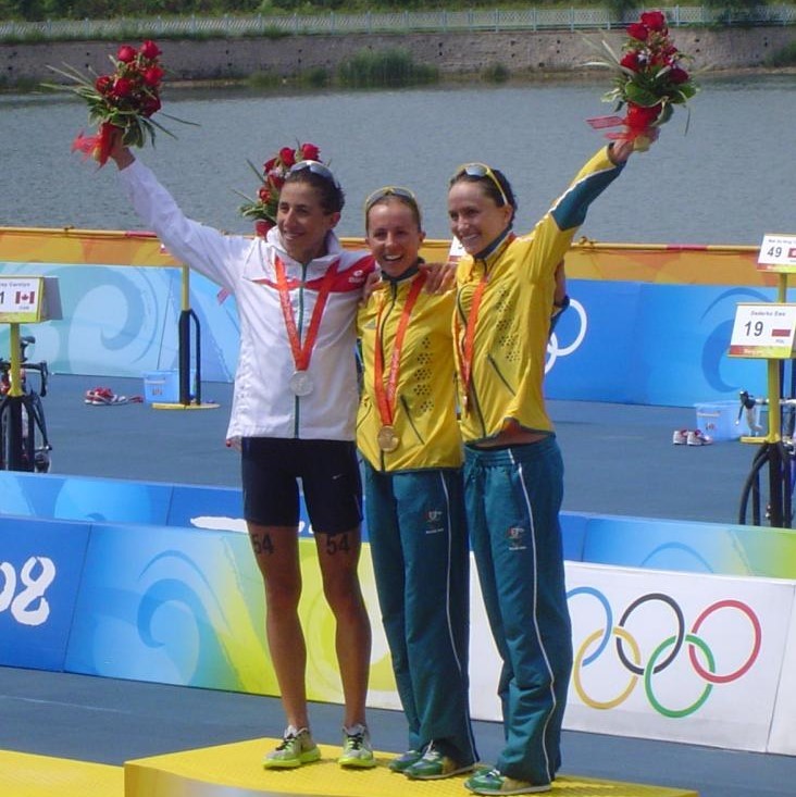
POLYGON ((738 304, 730 357, 787 360, 793 357, 796 304, 738 304))

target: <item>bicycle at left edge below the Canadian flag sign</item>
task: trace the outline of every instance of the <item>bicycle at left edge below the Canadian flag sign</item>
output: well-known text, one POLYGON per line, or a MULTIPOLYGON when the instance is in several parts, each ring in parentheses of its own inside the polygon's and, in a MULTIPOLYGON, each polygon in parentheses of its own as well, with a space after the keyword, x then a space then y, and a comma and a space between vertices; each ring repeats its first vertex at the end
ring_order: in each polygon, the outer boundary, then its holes
POLYGON ((11 360, 0 358, 0 470, 48 473, 52 465, 52 446, 47 436, 47 421, 41 399, 47 396, 50 375, 47 362, 28 362, 26 349, 36 343, 33 335, 20 338, 20 386, 12 387, 11 360), (39 374, 36 391, 28 374, 39 374))

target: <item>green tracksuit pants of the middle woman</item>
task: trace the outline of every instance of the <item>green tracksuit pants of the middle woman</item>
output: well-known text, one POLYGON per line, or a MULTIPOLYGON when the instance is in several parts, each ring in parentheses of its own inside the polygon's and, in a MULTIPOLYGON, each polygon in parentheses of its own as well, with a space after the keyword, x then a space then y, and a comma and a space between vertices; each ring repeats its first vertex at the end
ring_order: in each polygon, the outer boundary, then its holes
POLYGON ((364 465, 365 518, 409 749, 477 759, 470 725, 469 549, 461 472, 364 465))

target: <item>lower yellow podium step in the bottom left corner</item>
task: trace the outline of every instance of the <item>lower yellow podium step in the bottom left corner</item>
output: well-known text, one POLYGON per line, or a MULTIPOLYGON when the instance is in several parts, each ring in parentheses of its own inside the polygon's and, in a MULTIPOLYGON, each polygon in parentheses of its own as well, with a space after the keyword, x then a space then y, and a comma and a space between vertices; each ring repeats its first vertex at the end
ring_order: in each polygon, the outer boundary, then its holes
POLYGON ((0 750, 3 797, 123 797, 124 770, 102 763, 0 750))

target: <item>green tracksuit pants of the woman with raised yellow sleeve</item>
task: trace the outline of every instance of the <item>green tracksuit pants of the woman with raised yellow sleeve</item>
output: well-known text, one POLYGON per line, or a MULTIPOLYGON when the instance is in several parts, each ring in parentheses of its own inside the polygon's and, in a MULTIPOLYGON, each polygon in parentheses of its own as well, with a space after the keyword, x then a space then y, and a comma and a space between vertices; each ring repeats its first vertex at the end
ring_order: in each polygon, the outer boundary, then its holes
POLYGON ((563 463, 554 436, 467 448, 464 503, 481 589, 502 660, 506 746, 497 769, 543 785, 561 763, 572 670, 561 528, 563 463))

